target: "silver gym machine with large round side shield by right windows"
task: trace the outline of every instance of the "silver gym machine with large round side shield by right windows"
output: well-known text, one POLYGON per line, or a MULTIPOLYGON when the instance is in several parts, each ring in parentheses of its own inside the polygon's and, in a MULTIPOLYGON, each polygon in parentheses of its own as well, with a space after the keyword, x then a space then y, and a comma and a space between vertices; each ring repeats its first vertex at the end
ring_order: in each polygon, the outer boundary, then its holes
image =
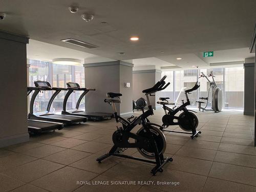
POLYGON ((199 111, 214 111, 215 113, 221 112, 222 110, 222 105, 223 105, 223 92, 222 90, 217 86, 215 80, 214 80, 214 75, 212 74, 213 71, 210 71, 208 77, 212 78, 212 81, 209 80, 209 78, 201 72, 200 77, 205 77, 207 81, 210 83, 208 92, 207 92, 207 97, 199 97, 199 99, 206 100, 206 104, 204 108, 202 107, 202 103, 205 103, 203 101, 196 101, 198 103, 198 109, 199 111), (206 109, 207 105, 209 103, 209 93, 211 91, 211 109, 206 109))

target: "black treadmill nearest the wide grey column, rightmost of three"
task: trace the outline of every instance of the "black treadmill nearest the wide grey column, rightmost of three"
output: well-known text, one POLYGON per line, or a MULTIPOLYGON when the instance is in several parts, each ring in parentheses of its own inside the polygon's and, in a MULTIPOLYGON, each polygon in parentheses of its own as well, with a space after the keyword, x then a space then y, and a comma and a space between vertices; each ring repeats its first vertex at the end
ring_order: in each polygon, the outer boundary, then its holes
POLYGON ((65 98, 64 98, 64 101, 63 101, 63 110, 62 110, 61 114, 87 117, 89 120, 93 120, 93 121, 101 121, 101 120, 106 120, 106 119, 112 119, 114 117, 114 115, 112 113, 88 112, 88 111, 83 111, 83 110, 78 109, 82 98, 89 91, 95 91, 95 89, 80 88, 79 84, 76 83, 76 82, 67 82, 67 87, 68 87, 69 91, 65 95, 65 98), (78 101, 76 103, 76 109, 66 109, 68 98, 72 94, 72 92, 74 92, 74 91, 83 91, 83 93, 78 98, 78 101))

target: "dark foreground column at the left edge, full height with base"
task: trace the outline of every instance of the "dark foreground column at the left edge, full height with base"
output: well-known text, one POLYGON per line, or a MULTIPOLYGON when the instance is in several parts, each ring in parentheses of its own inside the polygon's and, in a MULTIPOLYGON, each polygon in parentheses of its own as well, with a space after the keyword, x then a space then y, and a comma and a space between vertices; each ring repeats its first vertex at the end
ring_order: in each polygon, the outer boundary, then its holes
POLYGON ((0 147, 29 140, 26 44, 27 37, 0 31, 0 147))

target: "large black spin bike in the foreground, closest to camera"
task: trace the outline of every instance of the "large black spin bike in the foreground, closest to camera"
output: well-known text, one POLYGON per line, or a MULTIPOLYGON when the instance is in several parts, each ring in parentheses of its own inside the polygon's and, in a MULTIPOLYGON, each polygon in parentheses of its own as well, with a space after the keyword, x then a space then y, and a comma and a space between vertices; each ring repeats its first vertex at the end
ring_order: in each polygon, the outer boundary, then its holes
POLYGON ((157 172, 163 172, 162 167, 166 162, 173 161, 171 157, 163 157, 163 153, 166 148, 166 140, 164 134, 157 128, 157 126, 160 127, 160 125, 147 121, 148 116, 154 115, 148 95, 156 93, 157 91, 164 90, 169 85, 169 83, 165 85, 165 78, 166 76, 158 81, 154 87, 142 91, 142 93, 145 93, 146 95, 148 110, 142 113, 139 117, 131 116, 125 120, 118 116, 115 103, 121 103, 120 96, 122 96, 122 94, 107 93, 107 96, 110 98, 105 99, 104 102, 110 103, 112 105, 116 122, 122 123, 122 127, 117 127, 117 131, 113 133, 112 140, 114 142, 114 146, 111 148, 110 152, 96 159, 99 163, 101 163, 103 159, 110 156, 134 159, 156 164, 156 166, 151 170, 151 173, 156 175, 157 172), (141 124, 142 127, 139 129, 139 131, 137 131, 136 134, 132 133, 131 131, 138 124, 141 124), (135 141, 132 142, 129 139, 135 141), (120 154, 127 148, 137 148, 138 152, 143 157, 148 159, 155 159, 155 161, 120 154))

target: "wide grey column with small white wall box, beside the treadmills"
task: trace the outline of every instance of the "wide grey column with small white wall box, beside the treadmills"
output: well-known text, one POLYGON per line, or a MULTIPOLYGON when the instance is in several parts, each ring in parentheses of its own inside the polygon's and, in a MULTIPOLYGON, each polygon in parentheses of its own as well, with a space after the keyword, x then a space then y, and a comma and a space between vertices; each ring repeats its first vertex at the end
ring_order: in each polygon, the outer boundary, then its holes
POLYGON ((104 103, 106 93, 121 93, 122 102, 116 103, 118 114, 127 117, 133 114, 133 64, 122 61, 109 61, 84 64, 85 84, 95 88, 86 95, 86 110, 91 112, 113 113, 108 103, 104 103), (124 83, 130 82, 125 88, 124 83))

